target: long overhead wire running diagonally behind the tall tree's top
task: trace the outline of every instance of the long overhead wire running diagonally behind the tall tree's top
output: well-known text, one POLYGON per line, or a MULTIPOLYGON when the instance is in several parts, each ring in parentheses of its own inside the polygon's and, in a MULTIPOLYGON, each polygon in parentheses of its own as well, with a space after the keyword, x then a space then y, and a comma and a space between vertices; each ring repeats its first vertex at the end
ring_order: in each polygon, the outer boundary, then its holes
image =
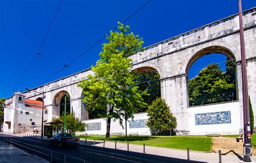
MULTIPOLYGON (((122 24, 124 24, 124 22, 127 22, 127 20, 131 19, 131 17, 133 17, 136 13, 140 12, 140 10, 142 10, 143 8, 145 8, 145 6, 147 6, 151 1, 153 0, 149 0, 147 1, 147 3, 145 3, 143 6, 141 6, 138 10, 136 10, 136 12, 132 13, 132 15, 130 15, 129 17, 127 17, 124 21, 122 21, 122 24)), ((115 31, 115 29, 117 29, 117 27, 115 27, 112 31, 115 31)), ((109 34, 109 33, 108 33, 109 34)), ((81 58, 81 56, 83 56, 84 54, 86 54, 89 50, 91 50, 93 47, 95 47, 98 43, 100 43, 102 40, 104 40, 104 38, 106 38, 106 35, 103 36, 102 38, 100 38, 97 42, 93 43, 92 46, 90 46, 88 49, 86 49, 84 52, 82 52, 81 54, 79 54, 79 56, 77 56, 76 58, 74 58, 72 61, 70 61, 70 63, 68 63, 67 66, 70 66, 72 63, 74 63, 77 59, 81 58)), ((62 70, 64 70, 67 66, 65 66, 64 68, 61 68, 61 70, 59 70, 58 72, 56 72, 54 75, 52 75, 51 77, 49 77, 46 81, 49 81, 50 79, 52 79, 52 77, 54 77, 55 75, 59 74, 62 70)), ((45 81, 45 82, 46 82, 45 81)))

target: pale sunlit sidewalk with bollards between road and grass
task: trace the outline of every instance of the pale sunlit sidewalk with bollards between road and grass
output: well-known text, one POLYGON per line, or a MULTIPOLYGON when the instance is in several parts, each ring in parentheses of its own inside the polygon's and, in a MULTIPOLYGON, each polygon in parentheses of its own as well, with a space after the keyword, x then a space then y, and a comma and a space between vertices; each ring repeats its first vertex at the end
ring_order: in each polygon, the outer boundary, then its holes
MULTIPOLYGON (((80 144, 85 144, 84 139, 80 139, 80 144)), ((87 140, 87 145, 94 145, 93 140, 87 140)), ((102 141, 95 141, 95 146, 103 147, 104 143, 102 141)), ((115 149, 115 142, 106 141, 105 148, 113 148, 115 149)), ((118 150, 127 150, 127 143, 116 143, 116 149, 118 150)), ((129 151, 136 151, 143 153, 143 145, 129 144, 129 151)), ((179 159, 188 159, 187 150, 174 150, 170 148, 161 148, 154 146, 145 146, 145 153, 152 155, 161 155, 166 157, 175 157, 179 159)), ((218 153, 208 153, 208 152, 200 152, 200 151, 189 151, 189 159, 202 161, 202 162, 219 162, 218 153)), ((243 162, 243 155, 221 155, 221 160, 223 163, 236 163, 243 162)), ((253 160, 256 160, 256 157, 253 156, 253 160)))

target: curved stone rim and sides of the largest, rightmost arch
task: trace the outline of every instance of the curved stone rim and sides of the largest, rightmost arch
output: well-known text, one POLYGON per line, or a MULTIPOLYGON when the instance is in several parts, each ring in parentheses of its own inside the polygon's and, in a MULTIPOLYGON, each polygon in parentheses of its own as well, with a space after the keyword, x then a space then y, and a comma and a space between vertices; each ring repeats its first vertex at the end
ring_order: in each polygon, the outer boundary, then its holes
MULTIPOLYGON (((234 61, 236 61, 236 58, 238 57, 238 49, 236 49, 235 47, 230 47, 231 49, 233 49, 234 51, 228 49, 227 47, 221 46, 221 45, 211 45, 209 47, 205 47, 206 45, 200 46, 194 50, 192 50, 192 52, 189 54, 188 59, 186 59, 187 63, 184 71, 187 74, 186 77, 186 81, 187 81, 187 97, 189 97, 188 95, 188 72, 189 69, 191 68, 191 66, 193 65, 193 63, 195 63, 195 61, 203 56, 209 55, 209 54, 223 54, 225 56, 227 56, 229 59, 234 59, 234 61)), ((237 70, 236 70, 237 72, 237 70)), ((238 90, 237 90, 237 73, 236 73, 236 78, 235 78, 235 85, 236 85, 236 95, 235 95, 235 100, 238 100, 238 90)), ((188 99, 188 98, 187 98, 188 99)), ((188 106, 189 106, 189 99, 188 99, 188 106)))

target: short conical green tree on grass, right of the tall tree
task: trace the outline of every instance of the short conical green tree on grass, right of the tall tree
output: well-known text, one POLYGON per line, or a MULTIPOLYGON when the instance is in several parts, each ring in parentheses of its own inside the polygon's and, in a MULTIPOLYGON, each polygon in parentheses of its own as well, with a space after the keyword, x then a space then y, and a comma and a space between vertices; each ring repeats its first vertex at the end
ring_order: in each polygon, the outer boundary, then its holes
POLYGON ((170 129, 172 132, 177 127, 175 116, 173 116, 170 107, 162 98, 156 98, 156 100, 148 106, 147 113, 149 116, 147 126, 150 128, 151 132, 159 130, 159 135, 161 135, 161 130, 170 129))

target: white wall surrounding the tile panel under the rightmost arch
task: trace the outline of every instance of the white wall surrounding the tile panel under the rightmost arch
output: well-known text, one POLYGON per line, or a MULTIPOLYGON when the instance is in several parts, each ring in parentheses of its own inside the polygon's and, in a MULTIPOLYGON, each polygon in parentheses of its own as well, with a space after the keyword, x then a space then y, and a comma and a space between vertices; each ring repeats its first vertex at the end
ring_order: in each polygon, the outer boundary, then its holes
POLYGON ((241 123, 239 102, 227 102, 188 108, 189 130, 191 135, 239 134, 241 123), (231 123, 196 125, 195 114, 230 111, 231 123))

